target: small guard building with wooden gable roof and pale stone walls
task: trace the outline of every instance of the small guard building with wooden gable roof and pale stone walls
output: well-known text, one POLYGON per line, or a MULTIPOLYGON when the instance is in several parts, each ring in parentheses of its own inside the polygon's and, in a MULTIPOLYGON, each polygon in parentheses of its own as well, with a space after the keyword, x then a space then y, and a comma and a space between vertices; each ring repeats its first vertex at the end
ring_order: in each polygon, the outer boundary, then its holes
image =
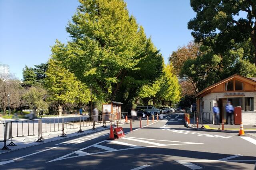
POLYGON ((214 103, 220 109, 220 121, 226 122, 226 104, 231 101, 235 107, 234 123, 246 125, 256 122, 256 78, 234 74, 196 94, 197 112, 213 113, 214 103))

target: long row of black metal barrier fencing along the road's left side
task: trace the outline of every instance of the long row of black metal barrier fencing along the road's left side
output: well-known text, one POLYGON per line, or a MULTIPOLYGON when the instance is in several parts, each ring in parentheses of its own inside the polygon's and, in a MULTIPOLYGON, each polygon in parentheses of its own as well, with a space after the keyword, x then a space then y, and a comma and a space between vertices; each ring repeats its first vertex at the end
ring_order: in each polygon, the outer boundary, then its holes
POLYGON ((44 139, 44 137, 42 134, 45 132, 62 131, 61 137, 66 137, 66 134, 64 133, 65 129, 79 128, 77 133, 83 133, 81 127, 92 126, 91 130, 97 130, 95 125, 103 124, 102 127, 106 128, 106 122, 108 121, 110 125, 116 126, 115 121, 121 123, 121 120, 125 119, 126 115, 128 115, 128 112, 103 114, 98 116, 92 115, 69 118, 62 117, 26 121, 7 121, 0 123, 0 125, 3 125, 4 129, 3 140, 0 142, 4 142, 4 147, 2 150, 10 150, 6 145, 6 142, 7 140, 11 139, 8 146, 16 146, 16 144, 13 143, 12 138, 38 135, 38 140, 36 140, 36 142, 43 142, 42 139, 44 139))

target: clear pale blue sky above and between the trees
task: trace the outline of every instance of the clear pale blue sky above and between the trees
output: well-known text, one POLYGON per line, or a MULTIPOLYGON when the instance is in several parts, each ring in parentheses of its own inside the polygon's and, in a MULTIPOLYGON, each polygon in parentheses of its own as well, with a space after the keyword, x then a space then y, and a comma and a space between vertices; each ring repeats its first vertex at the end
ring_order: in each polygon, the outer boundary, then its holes
MULTIPOLYGON (((193 40, 187 23, 196 13, 189 0, 125 0, 129 13, 161 50, 165 63, 178 46, 193 40)), ((50 46, 66 42, 77 0, 0 0, 0 63, 22 79, 25 65, 45 63, 50 46)))

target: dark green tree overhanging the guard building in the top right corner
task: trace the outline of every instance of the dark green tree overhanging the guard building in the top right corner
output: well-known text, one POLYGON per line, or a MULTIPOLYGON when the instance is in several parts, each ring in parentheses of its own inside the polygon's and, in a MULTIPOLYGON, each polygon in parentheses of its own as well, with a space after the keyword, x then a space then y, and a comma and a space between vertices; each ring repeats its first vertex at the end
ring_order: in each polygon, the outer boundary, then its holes
POLYGON ((218 47, 214 51, 231 49, 230 43, 251 40, 254 56, 250 62, 256 65, 256 1, 255 0, 190 0, 196 17, 188 22, 188 28, 194 30, 192 36, 196 42, 209 45, 214 38, 218 47), (245 13, 242 18, 240 13, 245 13), (237 18, 237 19, 236 19, 237 18))

